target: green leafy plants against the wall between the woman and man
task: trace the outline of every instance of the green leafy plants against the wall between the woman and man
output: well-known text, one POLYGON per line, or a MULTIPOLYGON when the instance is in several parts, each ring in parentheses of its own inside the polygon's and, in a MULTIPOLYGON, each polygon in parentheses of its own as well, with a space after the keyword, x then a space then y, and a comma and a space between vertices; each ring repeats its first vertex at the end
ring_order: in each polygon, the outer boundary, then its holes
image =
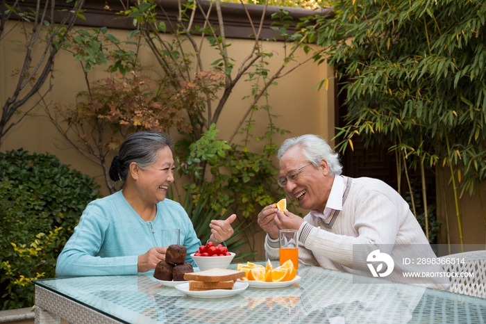
MULTIPOLYGON (((284 193, 275 185, 278 171, 271 156, 276 145, 265 145, 263 154, 252 153, 246 147, 218 140, 218 133, 212 124, 194 143, 187 139, 176 143, 176 168, 190 177, 183 184, 187 190, 184 208, 202 242, 210 237, 212 219, 226 219, 230 211, 237 214, 235 234, 226 241, 228 249, 236 252, 244 248, 248 236, 253 236, 245 231, 262 207, 280 200, 284 193)), ((267 135, 271 143, 271 131, 267 135)), ((237 259, 254 255, 255 251, 239 252, 237 259)))

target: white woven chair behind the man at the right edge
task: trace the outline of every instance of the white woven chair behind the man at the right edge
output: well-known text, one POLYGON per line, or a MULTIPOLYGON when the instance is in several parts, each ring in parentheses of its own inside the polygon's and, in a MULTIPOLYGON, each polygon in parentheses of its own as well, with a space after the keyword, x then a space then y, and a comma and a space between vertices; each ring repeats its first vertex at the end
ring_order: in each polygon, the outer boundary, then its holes
POLYGON ((440 259, 452 258, 464 258, 464 264, 443 264, 446 272, 474 273, 474 277, 451 277, 451 291, 486 298, 486 250, 450 254, 440 259))

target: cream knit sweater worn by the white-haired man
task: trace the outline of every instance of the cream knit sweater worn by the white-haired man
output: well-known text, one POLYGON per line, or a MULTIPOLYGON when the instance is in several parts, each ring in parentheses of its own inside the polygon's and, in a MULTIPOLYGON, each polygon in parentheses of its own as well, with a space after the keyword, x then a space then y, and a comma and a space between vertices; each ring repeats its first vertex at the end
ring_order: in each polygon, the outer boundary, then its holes
MULTIPOLYGON (((417 264, 421 258, 435 259, 435 254, 401 195, 378 179, 344 177, 344 184, 342 211, 333 211, 327 220, 310 214, 304 217, 299 228, 299 261, 372 277, 367 256, 379 249, 394 259, 394 270, 383 279, 449 290, 449 279, 440 277, 444 275, 441 266, 417 264), (405 264, 404 257, 414 264, 405 264), (410 271, 434 277, 404 277, 410 271)), ((267 235, 265 252, 269 259, 278 259, 278 240, 267 235)))

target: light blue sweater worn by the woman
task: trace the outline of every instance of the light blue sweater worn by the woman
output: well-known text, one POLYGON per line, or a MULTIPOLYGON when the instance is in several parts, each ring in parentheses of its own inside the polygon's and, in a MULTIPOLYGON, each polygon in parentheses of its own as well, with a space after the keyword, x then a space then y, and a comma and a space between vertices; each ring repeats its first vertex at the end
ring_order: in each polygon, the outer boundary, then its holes
POLYGON ((187 213, 178 202, 165 199, 157 204, 156 218, 145 222, 121 191, 94 200, 86 206, 74 234, 59 254, 58 277, 87 275, 136 275, 137 260, 162 242, 162 229, 181 229, 181 245, 187 248, 186 262, 201 241, 187 213))

